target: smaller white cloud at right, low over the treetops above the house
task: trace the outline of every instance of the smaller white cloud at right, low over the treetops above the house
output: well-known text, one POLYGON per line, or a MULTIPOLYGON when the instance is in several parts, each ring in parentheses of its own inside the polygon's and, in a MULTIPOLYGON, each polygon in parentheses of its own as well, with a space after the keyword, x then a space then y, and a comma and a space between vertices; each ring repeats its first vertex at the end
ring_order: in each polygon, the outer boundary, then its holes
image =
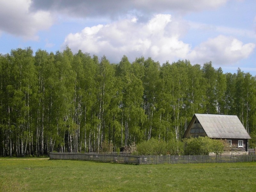
POLYGON ((234 64, 247 58, 254 48, 254 43, 243 44, 234 37, 219 35, 195 47, 188 54, 188 59, 194 63, 234 64))

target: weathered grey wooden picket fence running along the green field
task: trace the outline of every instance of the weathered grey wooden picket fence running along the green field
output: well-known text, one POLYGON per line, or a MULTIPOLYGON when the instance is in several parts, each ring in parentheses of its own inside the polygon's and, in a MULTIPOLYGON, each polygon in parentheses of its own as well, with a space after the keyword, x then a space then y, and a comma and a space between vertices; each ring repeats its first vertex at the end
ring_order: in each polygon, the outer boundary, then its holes
POLYGON ((235 163, 256 161, 256 155, 147 155, 137 156, 115 153, 55 153, 50 159, 79 159, 101 162, 121 162, 133 164, 187 164, 187 163, 235 163))

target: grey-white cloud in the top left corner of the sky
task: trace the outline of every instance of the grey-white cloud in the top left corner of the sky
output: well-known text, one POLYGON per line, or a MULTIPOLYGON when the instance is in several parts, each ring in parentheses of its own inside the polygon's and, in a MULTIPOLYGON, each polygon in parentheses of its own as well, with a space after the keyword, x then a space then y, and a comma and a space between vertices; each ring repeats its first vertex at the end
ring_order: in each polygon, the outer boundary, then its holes
POLYGON ((39 30, 48 29, 53 20, 48 11, 31 11, 31 0, 0 2, 0 31, 36 40, 39 30))

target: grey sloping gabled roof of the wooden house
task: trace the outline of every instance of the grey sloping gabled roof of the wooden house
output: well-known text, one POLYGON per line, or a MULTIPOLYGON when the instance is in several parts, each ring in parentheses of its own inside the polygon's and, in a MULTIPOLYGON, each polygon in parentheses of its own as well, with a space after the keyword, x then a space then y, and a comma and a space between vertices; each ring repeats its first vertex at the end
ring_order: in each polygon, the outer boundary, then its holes
POLYGON ((251 139, 236 115, 194 114, 189 125, 195 117, 210 138, 251 139))

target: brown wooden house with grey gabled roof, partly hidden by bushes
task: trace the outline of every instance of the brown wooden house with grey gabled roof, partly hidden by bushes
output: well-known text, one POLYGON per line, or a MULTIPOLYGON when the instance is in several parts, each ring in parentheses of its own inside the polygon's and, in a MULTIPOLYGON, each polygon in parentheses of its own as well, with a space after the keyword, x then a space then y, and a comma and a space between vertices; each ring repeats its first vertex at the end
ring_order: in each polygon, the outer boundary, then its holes
POLYGON ((236 115, 194 114, 183 138, 198 136, 226 139, 238 151, 247 151, 251 139, 236 115))

